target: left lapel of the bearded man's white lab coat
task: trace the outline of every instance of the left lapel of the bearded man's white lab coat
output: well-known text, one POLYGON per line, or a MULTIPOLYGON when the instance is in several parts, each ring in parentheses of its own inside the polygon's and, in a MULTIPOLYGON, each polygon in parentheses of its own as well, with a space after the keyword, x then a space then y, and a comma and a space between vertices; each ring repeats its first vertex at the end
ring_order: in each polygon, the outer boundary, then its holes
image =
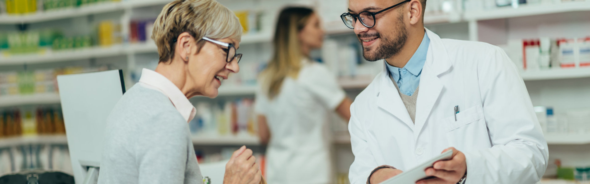
POLYGON ((402 98, 399 97, 399 92, 395 88, 394 82, 389 78, 385 66, 383 66, 383 69, 381 74, 379 74, 379 91, 376 94, 378 99, 377 106, 403 121, 410 129, 413 129, 414 123, 409 117, 408 110, 405 108, 402 98))

